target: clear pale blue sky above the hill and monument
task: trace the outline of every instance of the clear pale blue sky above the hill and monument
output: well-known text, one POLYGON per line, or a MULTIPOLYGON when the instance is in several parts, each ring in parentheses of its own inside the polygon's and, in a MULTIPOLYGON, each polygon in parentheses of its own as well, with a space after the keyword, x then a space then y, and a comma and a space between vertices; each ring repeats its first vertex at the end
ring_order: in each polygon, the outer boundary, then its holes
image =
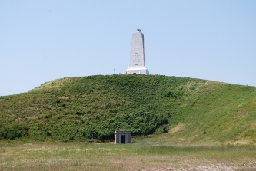
POLYGON ((138 28, 150 74, 256 86, 255 0, 0 0, 0 96, 123 72, 138 28))

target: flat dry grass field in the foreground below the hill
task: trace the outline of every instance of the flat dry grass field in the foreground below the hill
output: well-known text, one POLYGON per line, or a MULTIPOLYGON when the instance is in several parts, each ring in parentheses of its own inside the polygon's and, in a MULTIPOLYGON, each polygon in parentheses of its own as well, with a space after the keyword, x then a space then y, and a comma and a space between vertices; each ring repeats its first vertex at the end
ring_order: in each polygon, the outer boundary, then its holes
POLYGON ((0 143, 0 170, 255 170, 256 146, 0 143))

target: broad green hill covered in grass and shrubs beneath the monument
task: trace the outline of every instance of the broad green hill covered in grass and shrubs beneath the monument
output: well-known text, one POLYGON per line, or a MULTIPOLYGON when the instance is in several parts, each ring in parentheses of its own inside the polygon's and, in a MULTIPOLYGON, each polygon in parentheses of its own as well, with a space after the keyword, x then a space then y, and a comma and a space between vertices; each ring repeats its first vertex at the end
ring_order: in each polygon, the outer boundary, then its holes
POLYGON ((159 75, 69 77, 0 97, 2 140, 256 143, 256 88, 159 75))

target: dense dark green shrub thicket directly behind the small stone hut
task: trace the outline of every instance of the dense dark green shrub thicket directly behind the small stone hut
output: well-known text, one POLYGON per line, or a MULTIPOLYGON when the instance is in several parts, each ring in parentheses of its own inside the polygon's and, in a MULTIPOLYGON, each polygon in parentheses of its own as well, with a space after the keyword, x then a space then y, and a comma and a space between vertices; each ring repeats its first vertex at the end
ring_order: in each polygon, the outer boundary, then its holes
POLYGON ((146 136, 154 133, 158 127, 168 124, 169 117, 170 115, 140 111, 135 113, 122 113, 116 116, 115 119, 105 120, 106 118, 103 114, 92 121, 98 121, 98 125, 94 124, 96 127, 89 127, 86 136, 101 141, 114 140, 115 130, 131 130, 131 136, 146 136))

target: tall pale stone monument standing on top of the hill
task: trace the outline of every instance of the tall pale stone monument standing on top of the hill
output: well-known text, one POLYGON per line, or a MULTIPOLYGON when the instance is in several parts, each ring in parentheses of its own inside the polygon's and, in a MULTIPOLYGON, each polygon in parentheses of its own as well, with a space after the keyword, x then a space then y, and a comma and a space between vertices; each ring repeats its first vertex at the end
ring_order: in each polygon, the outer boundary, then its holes
POLYGON ((140 29, 132 34, 130 62, 125 74, 149 74, 145 67, 144 35, 140 29))

